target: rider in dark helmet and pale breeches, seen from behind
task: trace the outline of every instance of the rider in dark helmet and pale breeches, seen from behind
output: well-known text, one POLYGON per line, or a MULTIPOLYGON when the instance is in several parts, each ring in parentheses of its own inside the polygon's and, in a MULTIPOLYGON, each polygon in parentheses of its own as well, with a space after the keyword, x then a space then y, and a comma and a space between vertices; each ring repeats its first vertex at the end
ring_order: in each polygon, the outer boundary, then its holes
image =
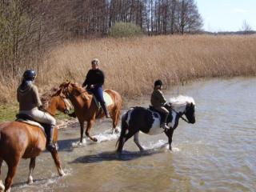
POLYGON ((47 138, 47 150, 54 150, 54 126, 56 120, 50 114, 39 110, 42 108, 42 102, 39 98, 38 87, 34 85, 36 73, 34 70, 26 70, 23 74, 22 83, 18 86, 17 99, 19 102, 19 114, 29 115, 37 122, 49 125, 50 135, 47 138))

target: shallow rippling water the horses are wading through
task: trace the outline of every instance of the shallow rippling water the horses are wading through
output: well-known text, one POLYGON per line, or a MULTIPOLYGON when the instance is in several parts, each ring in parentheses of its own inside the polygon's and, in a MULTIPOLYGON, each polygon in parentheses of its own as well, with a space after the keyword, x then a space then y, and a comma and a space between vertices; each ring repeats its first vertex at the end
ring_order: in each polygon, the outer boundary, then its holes
MULTIPOLYGON (((173 151, 165 134, 140 134, 146 152, 133 139, 118 158, 118 134, 109 120, 98 121, 92 133, 99 142, 78 146, 78 124, 59 131, 59 155, 66 176, 59 178, 49 153, 37 158, 34 184, 26 185, 29 160, 22 160, 12 191, 255 191, 256 79, 234 78, 194 82, 165 91, 186 94, 196 102, 194 125, 181 120, 173 151)), ((138 98, 128 106, 147 106, 138 98)), ((6 176, 6 165, 2 167, 6 176)))

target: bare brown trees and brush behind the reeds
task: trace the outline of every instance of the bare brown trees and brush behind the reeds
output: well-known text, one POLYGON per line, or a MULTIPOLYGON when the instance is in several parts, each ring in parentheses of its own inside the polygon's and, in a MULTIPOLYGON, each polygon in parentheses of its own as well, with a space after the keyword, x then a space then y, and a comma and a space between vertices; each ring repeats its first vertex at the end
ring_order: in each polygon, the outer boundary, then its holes
POLYGON ((1 74, 14 77, 25 63, 39 70, 50 46, 106 37, 117 22, 132 22, 148 35, 202 27, 194 0, 0 0, 1 74))

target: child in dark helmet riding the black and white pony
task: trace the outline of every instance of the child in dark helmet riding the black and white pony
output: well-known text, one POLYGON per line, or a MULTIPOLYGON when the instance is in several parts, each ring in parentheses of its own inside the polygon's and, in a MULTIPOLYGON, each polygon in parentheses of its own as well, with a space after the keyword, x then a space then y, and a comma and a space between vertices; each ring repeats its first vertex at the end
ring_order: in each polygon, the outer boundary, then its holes
POLYGON ((154 91, 151 94, 151 105, 154 107, 155 110, 158 110, 160 113, 164 114, 164 118, 161 121, 161 127, 163 129, 169 129, 167 126, 166 121, 169 115, 169 110, 166 110, 165 105, 167 104, 166 98, 162 94, 162 81, 157 80, 154 82, 154 91))

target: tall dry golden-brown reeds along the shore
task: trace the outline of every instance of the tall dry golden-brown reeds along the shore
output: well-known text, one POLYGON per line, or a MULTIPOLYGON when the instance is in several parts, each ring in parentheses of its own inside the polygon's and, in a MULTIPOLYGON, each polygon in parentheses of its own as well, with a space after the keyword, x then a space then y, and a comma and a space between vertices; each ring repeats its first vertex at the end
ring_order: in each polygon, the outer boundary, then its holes
MULTIPOLYGON (((149 94, 154 80, 171 86, 195 78, 256 74, 256 36, 158 36, 65 42, 43 59, 37 84, 50 89, 62 82, 82 83, 92 58, 106 74, 105 88, 123 97, 149 94)), ((0 78, 0 101, 15 99, 18 80, 0 78), (15 83, 14 83, 15 82, 15 83)))

